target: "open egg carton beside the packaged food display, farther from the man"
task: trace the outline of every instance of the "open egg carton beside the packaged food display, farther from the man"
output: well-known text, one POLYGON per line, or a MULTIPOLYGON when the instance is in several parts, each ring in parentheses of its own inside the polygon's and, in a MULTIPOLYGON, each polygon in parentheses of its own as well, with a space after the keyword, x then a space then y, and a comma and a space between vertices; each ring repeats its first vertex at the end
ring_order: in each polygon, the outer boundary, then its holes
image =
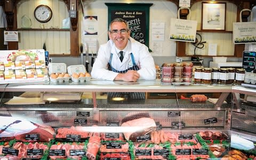
POLYGON ((49 63, 48 73, 51 82, 63 83, 70 81, 70 76, 67 74, 67 66, 65 63, 49 63))

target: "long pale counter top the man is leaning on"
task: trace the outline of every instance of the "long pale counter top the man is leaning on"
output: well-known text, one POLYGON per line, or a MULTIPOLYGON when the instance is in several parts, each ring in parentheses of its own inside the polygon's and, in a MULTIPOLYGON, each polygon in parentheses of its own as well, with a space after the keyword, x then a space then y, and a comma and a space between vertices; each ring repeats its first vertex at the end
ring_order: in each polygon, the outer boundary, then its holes
MULTIPOLYGON (((244 88, 244 87, 243 87, 244 88)), ((13 83, 0 85, 1 92, 232 92, 232 85, 205 85, 193 83, 165 83, 161 81, 102 81, 91 79, 77 83, 13 83)), ((256 92, 253 90, 253 92, 256 92)))

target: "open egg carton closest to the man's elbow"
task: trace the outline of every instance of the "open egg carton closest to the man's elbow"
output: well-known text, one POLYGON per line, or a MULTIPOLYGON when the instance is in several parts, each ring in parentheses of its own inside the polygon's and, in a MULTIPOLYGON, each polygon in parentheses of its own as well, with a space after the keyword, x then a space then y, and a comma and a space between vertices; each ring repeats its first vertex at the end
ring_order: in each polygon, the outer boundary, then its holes
POLYGON ((86 72, 84 65, 71 65, 68 66, 68 74, 74 82, 90 81, 91 75, 86 72))

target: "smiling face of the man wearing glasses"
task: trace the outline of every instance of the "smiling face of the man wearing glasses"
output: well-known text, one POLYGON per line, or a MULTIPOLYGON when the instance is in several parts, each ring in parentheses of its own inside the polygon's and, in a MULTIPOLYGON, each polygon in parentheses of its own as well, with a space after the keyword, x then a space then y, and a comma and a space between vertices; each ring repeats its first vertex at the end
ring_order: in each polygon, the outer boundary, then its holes
POLYGON ((115 43, 117 49, 123 50, 128 43, 130 31, 127 31, 124 22, 113 22, 108 36, 115 43))

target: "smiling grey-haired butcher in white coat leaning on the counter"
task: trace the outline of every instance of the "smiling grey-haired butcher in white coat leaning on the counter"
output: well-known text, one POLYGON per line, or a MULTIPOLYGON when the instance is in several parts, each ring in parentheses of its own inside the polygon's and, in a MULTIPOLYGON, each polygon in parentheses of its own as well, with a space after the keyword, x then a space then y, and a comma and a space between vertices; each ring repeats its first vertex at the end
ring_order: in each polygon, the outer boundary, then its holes
POLYGON ((136 82, 155 79, 154 59, 148 47, 130 37, 127 22, 116 18, 109 25, 109 41, 100 46, 92 67, 93 78, 136 82))

